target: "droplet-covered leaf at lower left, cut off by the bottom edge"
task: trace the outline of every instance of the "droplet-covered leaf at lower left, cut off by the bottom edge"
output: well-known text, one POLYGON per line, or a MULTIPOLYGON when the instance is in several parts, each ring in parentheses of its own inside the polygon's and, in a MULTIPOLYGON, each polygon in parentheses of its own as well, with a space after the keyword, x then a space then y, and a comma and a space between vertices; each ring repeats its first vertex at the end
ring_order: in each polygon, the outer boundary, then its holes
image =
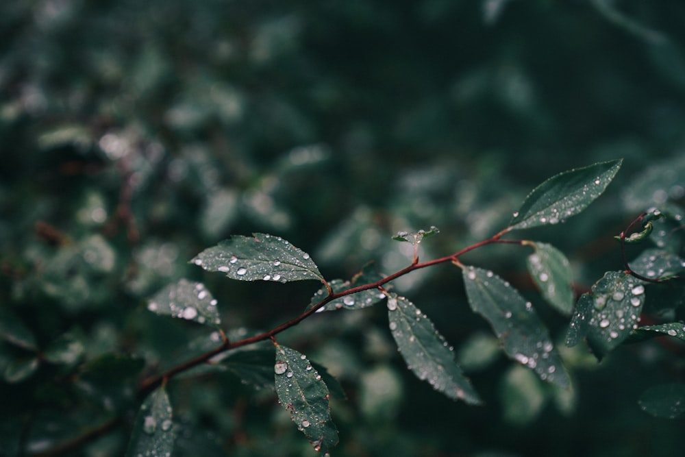
POLYGON ((164 387, 148 395, 136 415, 126 456, 171 456, 174 443, 171 412, 164 387))

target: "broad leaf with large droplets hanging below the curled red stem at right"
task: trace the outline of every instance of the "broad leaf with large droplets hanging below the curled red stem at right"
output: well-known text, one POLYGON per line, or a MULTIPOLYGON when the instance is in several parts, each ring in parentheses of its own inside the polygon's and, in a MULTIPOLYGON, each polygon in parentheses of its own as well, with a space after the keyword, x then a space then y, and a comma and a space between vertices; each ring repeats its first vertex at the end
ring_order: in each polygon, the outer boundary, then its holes
POLYGON ((567 343, 586 336, 597 358, 602 358, 637 328, 645 286, 623 271, 608 271, 593 286, 592 294, 581 299, 571 322, 573 338, 569 334, 567 343))

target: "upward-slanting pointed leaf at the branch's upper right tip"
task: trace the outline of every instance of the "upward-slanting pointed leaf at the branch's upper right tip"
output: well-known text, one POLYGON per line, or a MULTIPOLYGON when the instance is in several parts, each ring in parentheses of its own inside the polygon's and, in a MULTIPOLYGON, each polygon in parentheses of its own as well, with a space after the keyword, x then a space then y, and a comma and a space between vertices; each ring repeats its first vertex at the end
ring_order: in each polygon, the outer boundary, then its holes
POLYGON ((549 178, 534 188, 521 209, 514 212, 508 230, 556 224, 578 214, 606 190, 621 162, 599 162, 549 178))

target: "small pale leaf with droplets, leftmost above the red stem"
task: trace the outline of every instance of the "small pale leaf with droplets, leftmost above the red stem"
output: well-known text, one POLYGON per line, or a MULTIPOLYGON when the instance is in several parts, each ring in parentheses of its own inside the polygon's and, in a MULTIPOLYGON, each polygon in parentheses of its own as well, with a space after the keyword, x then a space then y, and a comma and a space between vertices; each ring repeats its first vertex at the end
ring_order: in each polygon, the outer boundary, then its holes
POLYGON ((201 282, 183 279, 176 284, 169 284, 148 301, 147 309, 155 314, 207 325, 221 323, 216 299, 201 282))

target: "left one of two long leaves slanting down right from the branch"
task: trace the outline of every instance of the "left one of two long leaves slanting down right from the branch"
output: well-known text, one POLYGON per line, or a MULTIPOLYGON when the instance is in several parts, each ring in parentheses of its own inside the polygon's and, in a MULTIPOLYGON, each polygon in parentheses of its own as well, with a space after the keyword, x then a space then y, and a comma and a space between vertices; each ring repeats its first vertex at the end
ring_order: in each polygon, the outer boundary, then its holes
POLYGON ((451 399, 479 404, 478 394, 457 365, 451 347, 433 323, 411 301, 388 297, 390 331, 407 366, 420 380, 451 399))

